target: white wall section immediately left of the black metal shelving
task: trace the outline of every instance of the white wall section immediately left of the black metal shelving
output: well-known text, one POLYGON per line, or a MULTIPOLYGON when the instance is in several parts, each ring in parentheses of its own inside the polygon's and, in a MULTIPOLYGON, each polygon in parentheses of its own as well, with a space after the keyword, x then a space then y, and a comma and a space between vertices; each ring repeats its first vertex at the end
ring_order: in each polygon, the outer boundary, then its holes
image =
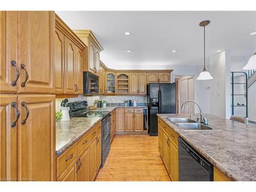
POLYGON ((227 51, 209 58, 210 74, 210 114, 230 118, 230 62, 227 51))

